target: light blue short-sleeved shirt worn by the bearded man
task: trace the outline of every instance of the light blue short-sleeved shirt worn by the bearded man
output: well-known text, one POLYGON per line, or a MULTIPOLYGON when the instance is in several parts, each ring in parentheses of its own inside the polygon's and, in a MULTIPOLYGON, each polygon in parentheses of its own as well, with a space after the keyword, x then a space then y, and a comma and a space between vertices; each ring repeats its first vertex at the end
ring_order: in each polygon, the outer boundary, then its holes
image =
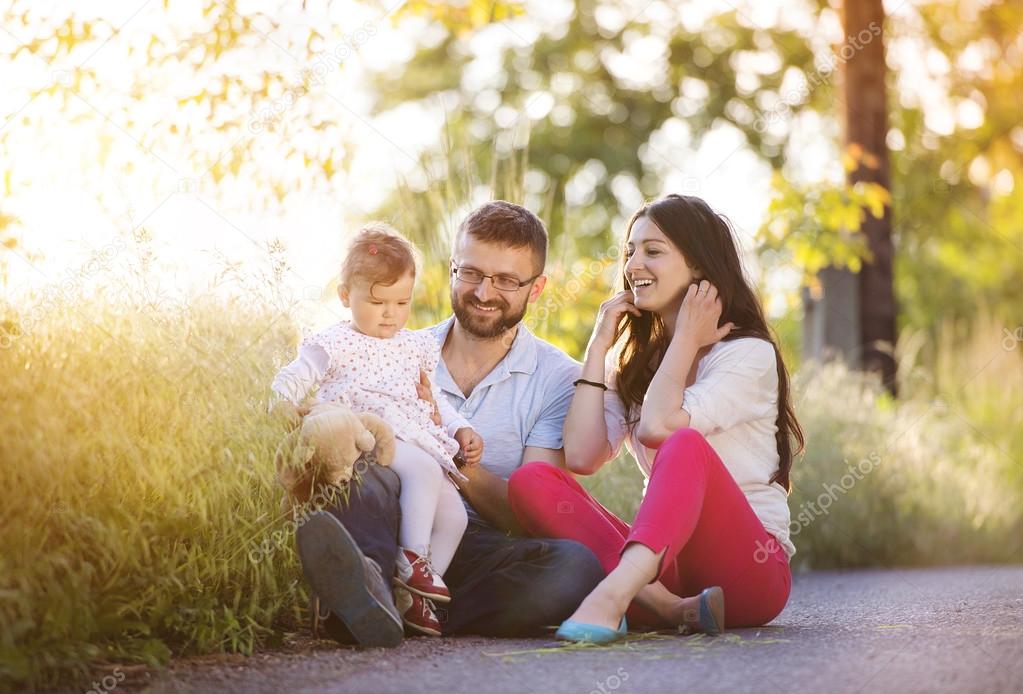
MULTIPOLYGON (((443 347, 451 316, 430 330, 443 347)), ((526 446, 561 448, 565 416, 581 364, 519 323, 511 349, 473 389, 455 385, 441 356, 434 381, 451 406, 483 437, 482 465, 507 479, 522 465, 526 446)), ((470 515, 476 516, 470 509, 470 515)), ((476 516, 479 518, 479 516, 476 516)))

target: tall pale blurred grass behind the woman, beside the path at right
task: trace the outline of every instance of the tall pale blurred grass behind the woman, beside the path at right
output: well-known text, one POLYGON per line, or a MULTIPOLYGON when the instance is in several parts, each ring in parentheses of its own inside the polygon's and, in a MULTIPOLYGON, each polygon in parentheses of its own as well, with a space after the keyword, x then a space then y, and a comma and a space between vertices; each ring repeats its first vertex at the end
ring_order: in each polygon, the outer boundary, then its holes
MULTIPOLYGON (((893 400, 876 380, 841 364, 796 375, 807 444, 789 498, 794 567, 1019 560, 1023 446, 1011 416, 1023 406, 1023 378, 1018 354, 996 358, 1006 371, 992 368, 944 397, 927 379, 893 400), (998 406, 985 404, 991 399, 998 406)), ((919 378, 903 366, 907 382, 919 378)), ((959 384, 970 372, 945 376, 959 384)), ((626 454, 583 484, 624 520, 634 517, 642 478, 626 454)))

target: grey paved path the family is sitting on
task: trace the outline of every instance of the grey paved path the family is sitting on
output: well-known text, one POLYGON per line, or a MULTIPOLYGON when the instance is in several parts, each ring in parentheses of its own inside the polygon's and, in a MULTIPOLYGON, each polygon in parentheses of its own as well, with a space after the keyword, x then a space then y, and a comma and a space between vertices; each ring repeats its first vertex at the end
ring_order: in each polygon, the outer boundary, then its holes
MULTIPOLYGON (((797 574, 770 625, 717 639, 410 639, 179 661, 152 692, 1023 692, 1023 566, 797 574)), ((119 690, 134 689, 132 686, 119 690)))

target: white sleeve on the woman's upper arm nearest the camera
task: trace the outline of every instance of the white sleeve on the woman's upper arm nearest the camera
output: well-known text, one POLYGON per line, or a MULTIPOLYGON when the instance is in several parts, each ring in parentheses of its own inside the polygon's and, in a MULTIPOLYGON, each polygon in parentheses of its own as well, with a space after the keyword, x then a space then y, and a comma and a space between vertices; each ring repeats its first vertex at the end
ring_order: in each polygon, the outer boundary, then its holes
MULTIPOLYGON (((745 338, 708 354, 696 383, 682 395, 690 427, 704 436, 777 416, 777 362, 766 340, 745 338)), ((701 364, 703 365, 703 364, 701 364)))

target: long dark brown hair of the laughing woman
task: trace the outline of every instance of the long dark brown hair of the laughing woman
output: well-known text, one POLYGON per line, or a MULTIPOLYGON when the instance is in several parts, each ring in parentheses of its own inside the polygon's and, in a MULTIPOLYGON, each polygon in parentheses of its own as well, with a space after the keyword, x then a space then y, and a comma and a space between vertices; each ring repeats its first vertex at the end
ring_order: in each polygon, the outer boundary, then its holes
MULTIPOLYGON (((736 324, 724 340, 760 338, 774 347, 777 363, 777 433, 774 437, 780 460, 777 472, 770 481, 779 482, 786 490, 791 489, 789 472, 792 460, 803 449, 805 437, 792 408, 789 374, 785 368, 782 352, 767 327, 760 300, 743 274, 731 227, 707 203, 692 196, 670 194, 644 205, 632 215, 625 230, 622 245, 623 288, 629 286, 625 276, 627 258, 624 249, 632 232, 632 225, 640 217, 654 222, 682 253, 688 266, 717 288, 722 307, 718 324, 729 321, 736 324), (793 439, 796 442, 795 449, 793 439)), ((618 355, 617 388, 630 418, 642 405, 643 396, 668 348, 670 338, 661 317, 653 311, 642 311, 639 316, 628 313, 619 327, 615 342, 617 344, 624 339, 624 344, 618 355)))

